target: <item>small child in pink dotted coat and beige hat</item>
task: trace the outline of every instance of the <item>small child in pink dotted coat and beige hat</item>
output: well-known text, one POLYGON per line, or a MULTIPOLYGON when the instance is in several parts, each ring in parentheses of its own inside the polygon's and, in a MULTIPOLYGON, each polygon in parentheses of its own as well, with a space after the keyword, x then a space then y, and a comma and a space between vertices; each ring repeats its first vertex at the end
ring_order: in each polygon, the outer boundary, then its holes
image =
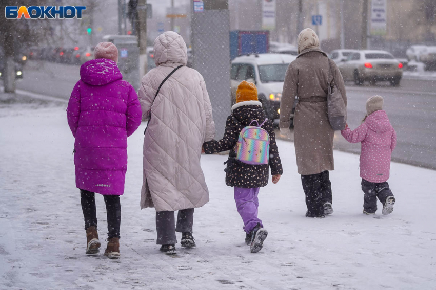
POLYGON ((383 98, 373 96, 366 101, 367 115, 362 125, 351 131, 346 125, 342 136, 350 143, 362 142, 360 177, 365 193, 364 214, 375 214, 377 198, 383 204, 383 214, 393 211, 395 197, 389 188, 391 152, 397 144, 397 135, 383 110, 383 98))

